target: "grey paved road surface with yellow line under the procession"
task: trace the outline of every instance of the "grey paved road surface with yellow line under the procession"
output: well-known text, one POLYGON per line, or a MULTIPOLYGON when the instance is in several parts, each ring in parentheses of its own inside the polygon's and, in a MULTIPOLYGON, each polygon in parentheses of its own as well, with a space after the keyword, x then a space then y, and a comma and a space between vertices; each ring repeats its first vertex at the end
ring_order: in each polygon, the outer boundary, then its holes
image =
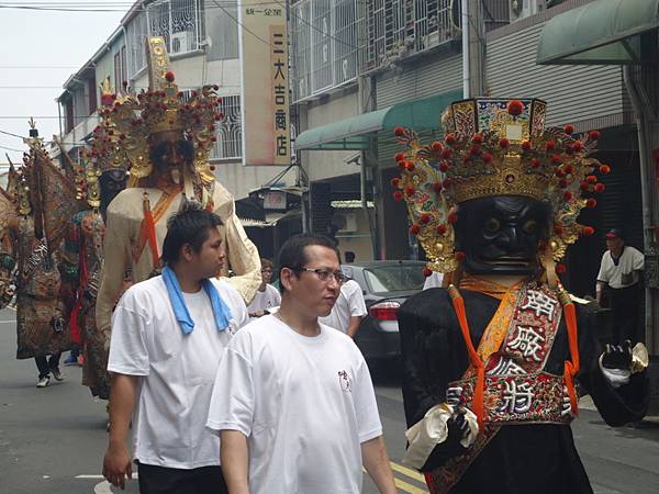
MULTIPOLYGON (((80 369, 63 368, 64 383, 37 390, 32 360, 15 360, 15 313, 0 311, 0 494, 110 494, 100 475, 105 404, 79 385, 80 369)), ((373 372, 396 485, 427 492, 421 475, 401 465, 404 418, 395 369, 373 372)), ((574 436, 596 494, 659 492, 659 428, 612 429, 583 409, 574 436)), ((136 483, 124 491, 136 494, 136 483)), ((373 494, 365 478, 364 492, 373 494)))

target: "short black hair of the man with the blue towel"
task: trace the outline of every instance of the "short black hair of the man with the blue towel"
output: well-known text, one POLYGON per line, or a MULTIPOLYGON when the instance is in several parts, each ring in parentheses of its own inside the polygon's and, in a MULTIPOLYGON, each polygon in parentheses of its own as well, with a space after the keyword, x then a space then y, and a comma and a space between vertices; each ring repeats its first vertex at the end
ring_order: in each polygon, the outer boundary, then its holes
POLYGON ((194 252, 209 239, 210 229, 221 226, 222 220, 212 211, 204 210, 197 201, 187 201, 181 210, 167 220, 167 235, 163 243, 161 260, 172 265, 179 260, 181 247, 190 245, 194 252))

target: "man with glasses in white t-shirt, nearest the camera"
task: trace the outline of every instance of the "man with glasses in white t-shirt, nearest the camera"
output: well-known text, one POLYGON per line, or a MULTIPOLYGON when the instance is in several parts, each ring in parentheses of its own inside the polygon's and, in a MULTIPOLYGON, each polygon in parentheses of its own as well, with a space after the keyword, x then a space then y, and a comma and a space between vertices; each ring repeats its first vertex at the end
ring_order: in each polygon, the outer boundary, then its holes
POLYGON ((279 312, 238 333, 215 379, 208 427, 221 434, 228 490, 358 494, 364 464, 393 494, 368 367, 350 338, 319 324, 344 280, 334 244, 295 235, 279 256, 279 312))

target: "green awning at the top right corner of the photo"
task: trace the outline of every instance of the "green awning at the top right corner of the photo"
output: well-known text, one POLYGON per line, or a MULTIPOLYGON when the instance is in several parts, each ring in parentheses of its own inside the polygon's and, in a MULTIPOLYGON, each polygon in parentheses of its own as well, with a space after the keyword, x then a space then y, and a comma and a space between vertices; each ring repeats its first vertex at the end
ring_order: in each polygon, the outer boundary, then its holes
POLYGON ((538 64, 619 65, 641 59, 659 27, 659 0, 597 0, 556 15, 543 29, 538 64))

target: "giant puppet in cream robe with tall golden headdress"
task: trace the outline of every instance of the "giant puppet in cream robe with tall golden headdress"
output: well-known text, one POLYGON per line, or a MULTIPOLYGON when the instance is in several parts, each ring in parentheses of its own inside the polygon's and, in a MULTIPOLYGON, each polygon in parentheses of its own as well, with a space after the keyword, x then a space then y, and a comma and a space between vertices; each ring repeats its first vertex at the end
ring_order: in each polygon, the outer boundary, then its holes
MULTIPOLYGON (((197 200, 220 215, 228 265, 228 281, 246 303, 260 285, 260 260, 235 214, 233 197, 215 181, 208 158, 215 142, 219 98, 204 87, 179 92, 169 71, 165 41, 147 40, 149 90, 116 101, 103 110, 94 138, 111 143, 131 161, 127 188, 108 207, 104 265, 97 299, 97 325, 110 334, 112 310, 123 288, 124 273, 133 282, 159 272, 159 252, 167 218, 186 200, 197 200), (111 124, 110 124, 111 122, 111 124)), ((221 276, 227 274, 224 266, 221 276)), ((109 338, 107 338, 109 341, 109 338)))

